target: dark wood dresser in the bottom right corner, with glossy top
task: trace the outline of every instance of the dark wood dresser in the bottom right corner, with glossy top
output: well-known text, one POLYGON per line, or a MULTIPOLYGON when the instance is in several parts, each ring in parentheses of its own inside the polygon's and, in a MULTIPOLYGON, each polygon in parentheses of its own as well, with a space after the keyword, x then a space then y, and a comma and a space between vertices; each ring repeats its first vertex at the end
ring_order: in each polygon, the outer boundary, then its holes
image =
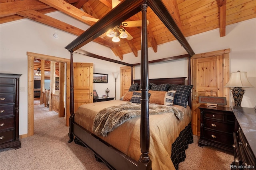
POLYGON ((232 107, 236 117, 234 162, 231 170, 256 170, 256 111, 254 108, 232 107))

